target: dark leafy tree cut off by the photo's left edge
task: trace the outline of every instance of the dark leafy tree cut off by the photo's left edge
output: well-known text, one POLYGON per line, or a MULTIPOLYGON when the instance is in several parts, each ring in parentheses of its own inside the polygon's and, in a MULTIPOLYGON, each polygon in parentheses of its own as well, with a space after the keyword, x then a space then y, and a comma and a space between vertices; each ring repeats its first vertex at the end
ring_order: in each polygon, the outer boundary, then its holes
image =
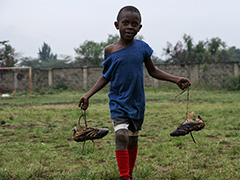
POLYGON ((8 41, 0 41, 0 67, 13 67, 17 63, 15 56, 15 49, 8 41))

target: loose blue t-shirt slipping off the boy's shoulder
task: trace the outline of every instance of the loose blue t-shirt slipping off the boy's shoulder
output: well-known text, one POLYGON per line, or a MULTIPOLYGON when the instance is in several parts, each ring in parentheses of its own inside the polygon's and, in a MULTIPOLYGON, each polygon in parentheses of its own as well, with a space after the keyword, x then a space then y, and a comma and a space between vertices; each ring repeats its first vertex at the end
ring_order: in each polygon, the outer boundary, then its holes
POLYGON ((152 52, 147 43, 134 40, 130 46, 105 55, 103 76, 110 80, 108 96, 112 119, 144 118, 143 63, 152 52))

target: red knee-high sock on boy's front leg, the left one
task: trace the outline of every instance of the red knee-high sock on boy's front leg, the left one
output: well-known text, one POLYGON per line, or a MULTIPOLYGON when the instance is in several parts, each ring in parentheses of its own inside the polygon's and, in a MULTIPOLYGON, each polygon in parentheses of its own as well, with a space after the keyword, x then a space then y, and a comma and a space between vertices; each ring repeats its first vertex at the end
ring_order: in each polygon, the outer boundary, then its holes
POLYGON ((116 157, 120 178, 129 178, 129 156, 128 150, 116 150, 116 157))

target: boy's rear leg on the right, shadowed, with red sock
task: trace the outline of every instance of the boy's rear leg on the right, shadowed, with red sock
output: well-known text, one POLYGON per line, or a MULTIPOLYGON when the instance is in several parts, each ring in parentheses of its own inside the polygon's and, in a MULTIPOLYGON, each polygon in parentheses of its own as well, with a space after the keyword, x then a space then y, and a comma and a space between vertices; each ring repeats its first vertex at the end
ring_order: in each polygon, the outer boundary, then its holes
POLYGON ((129 136, 128 156, 129 156, 129 175, 132 176, 138 152, 138 136, 129 136))

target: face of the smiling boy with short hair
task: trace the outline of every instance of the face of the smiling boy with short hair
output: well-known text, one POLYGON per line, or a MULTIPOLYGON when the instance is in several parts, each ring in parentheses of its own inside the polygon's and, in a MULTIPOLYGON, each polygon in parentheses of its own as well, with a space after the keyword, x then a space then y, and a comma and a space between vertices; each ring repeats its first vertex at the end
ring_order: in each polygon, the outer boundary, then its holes
POLYGON ((138 13, 124 11, 115 22, 115 27, 119 30, 120 36, 124 40, 132 40, 142 28, 141 18, 138 13))

